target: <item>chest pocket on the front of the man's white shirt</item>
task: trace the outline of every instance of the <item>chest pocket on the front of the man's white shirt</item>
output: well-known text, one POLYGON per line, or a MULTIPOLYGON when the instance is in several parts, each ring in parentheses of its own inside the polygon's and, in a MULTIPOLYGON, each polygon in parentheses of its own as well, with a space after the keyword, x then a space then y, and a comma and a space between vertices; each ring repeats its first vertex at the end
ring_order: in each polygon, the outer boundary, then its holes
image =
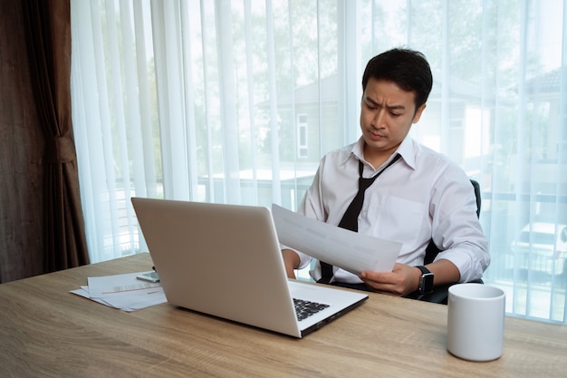
POLYGON ((373 219, 369 226, 376 237, 413 247, 431 235, 426 203, 388 196, 368 211, 369 219, 373 219))

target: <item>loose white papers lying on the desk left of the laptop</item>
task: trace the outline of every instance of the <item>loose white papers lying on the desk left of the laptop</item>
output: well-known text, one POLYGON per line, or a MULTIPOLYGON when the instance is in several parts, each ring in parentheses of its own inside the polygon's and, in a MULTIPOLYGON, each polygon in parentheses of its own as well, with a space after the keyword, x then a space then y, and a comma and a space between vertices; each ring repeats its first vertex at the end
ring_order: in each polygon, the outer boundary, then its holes
POLYGON ((136 311, 167 302, 159 282, 149 283, 136 278, 143 273, 147 272, 88 277, 88 286, 81 286, 71 293, 124 311, 136 311))

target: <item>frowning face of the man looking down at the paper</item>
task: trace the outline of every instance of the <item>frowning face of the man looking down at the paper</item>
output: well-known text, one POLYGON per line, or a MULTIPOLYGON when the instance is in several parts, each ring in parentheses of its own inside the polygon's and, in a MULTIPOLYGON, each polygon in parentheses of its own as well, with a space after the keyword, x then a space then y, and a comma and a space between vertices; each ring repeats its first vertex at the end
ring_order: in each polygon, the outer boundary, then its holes
POLYGON ((360 129, 366 145, 364 159, 383 162, 419 121, 425 104, 416 110, 415 93, 395 82, 370 78, 362 94, 360 129))

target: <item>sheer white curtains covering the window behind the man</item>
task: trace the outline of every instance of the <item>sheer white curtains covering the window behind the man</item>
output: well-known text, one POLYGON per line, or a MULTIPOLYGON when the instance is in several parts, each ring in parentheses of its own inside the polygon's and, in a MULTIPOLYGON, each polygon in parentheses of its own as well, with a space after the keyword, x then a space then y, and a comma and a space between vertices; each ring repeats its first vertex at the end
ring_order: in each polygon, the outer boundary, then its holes
POLYGON ((133 196, 296 208, 360 136, 361 74, 428 57, 411 135, 482 188, 506 311, 566 322, 567 0, 72 2, 72 109, 91 261, 146 251, 133 196))

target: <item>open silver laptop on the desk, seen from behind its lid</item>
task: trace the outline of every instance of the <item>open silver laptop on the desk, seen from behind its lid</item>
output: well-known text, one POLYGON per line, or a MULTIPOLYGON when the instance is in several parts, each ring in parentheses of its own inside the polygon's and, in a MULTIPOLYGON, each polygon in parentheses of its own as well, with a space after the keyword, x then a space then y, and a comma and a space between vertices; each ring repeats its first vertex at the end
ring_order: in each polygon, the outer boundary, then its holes
POLYGON ((132 198, 171 305, 293 337, 368 296, 288 280, 268 208, 132 198), (295 305, 307 310, 296 314, 295 305))

